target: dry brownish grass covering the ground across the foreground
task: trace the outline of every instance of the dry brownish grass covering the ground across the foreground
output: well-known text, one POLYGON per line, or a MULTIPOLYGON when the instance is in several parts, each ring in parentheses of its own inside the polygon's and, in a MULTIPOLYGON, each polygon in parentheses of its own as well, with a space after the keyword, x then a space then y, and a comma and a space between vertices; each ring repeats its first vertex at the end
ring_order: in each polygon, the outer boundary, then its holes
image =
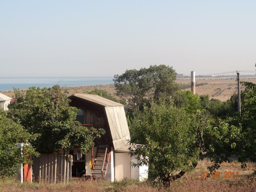
POLYGON ((248 163, 246 169, 241 169, 240 163, 233 161, 232 163, 224 163, 218 171, 235 171, 239 172, 240 178, 207 178, 200 177, 201 171, 206 171, 206 167, 211 162, 204 160, 199 162, 195 171, 185 175, 179 180, 172 183, 170 188, 165 188, 149 182, 138 182, 133 180, 124 180, 121 182, 97 182, 97 181, 72 181, 66 184, 47 184, 47 183, 19 183, 15 180, 0 180, 0 191, 3 192, 19 192, 19 191, 42 191, 42 192, 153 192, 153 191, 182 191, 182 192, 216 192, 216 191, 256 191, 256 177, 252 176, 256 169, 256 164, 248 163))

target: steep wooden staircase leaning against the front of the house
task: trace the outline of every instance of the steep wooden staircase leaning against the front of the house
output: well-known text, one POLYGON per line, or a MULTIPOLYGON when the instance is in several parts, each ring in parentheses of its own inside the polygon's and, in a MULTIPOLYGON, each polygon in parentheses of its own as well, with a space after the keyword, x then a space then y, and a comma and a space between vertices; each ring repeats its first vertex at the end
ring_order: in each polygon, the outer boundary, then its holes
POLYGON ((92 165, 92 177, 94 179, 105 180, 108 171, 108 164, 110 159, 110 147, 98 147, 94 163, 92 165))

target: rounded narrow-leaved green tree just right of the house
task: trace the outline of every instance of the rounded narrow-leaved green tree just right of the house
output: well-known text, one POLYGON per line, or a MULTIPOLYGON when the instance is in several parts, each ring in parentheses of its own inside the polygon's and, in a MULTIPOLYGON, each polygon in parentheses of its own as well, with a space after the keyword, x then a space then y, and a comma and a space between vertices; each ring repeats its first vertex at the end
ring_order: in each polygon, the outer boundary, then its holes
POLYGON ((172 100, 151 100, 150 106, 144 105, 130 123, 130 153, 138 159, 138 164, 133 165, 149 165, 149 171, 164 181, 177 171, 192 171, 199 156, 195 145, 197 127, 191 126, 193 118, 176 108, 172 100))

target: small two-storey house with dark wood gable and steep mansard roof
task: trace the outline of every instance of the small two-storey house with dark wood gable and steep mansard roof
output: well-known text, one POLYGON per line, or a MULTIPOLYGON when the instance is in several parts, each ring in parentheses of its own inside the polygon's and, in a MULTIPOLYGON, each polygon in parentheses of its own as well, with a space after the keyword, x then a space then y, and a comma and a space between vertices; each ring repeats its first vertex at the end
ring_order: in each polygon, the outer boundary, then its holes
POLYGON ((77 121, 81 125, 106 131, 95 140, 94 148, 87 154, 81 154, 79 146, 66 152, 66 155, 73 156, 72 177, 85 173, 108 181, 146 179, 147 166, 131 166, 131 162, 136 162, 136 159, 128 151, 130 132, 124 106, 98 95, 85 93, 75 93, 69 99, 70 105, 79 109, 77 121))

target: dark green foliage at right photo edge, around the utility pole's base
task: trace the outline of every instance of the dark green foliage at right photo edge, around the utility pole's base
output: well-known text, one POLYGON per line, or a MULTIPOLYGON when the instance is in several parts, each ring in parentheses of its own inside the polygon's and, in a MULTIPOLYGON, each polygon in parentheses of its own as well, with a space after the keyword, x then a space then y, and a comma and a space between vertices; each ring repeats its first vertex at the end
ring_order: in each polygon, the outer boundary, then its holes
MULTIPOLYGON (((249 160, 256 162, 256 84, 241 83, 247 87, 243 92, 241 114, 231 111, 228 115, 231 117, 219 119, 215 126, 204 130, 206 155, 214 162, 210 170, 218 168, 223 161, 229 161, 230 155, 238 156, 242 167, 246 167, 249 160)), ((235 103, 234 100, 235 96, 227 102, 235 103)), ((232 106, 228 108, 232 109, 232 106)))

